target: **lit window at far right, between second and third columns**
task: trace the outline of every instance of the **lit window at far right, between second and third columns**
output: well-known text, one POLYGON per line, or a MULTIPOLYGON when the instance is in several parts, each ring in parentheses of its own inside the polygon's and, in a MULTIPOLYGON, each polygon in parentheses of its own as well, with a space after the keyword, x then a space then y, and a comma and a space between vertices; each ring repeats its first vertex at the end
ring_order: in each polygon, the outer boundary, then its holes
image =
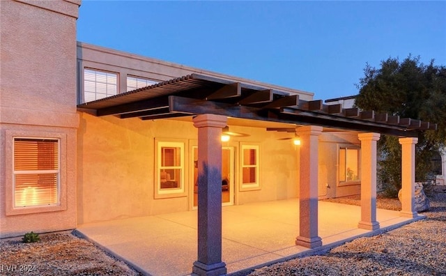
POLYGON ((339 182, 360 181, 360 149, 339 149, 339 182))

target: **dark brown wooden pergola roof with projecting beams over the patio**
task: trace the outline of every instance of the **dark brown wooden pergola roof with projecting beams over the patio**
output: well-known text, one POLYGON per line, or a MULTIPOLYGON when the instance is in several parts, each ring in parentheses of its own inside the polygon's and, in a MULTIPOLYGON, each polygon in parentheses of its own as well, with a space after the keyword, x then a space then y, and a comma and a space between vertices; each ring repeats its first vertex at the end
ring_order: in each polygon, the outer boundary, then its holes
POLYGON ((142 120, 217 114, 262 121, 268 130, 290 132, 294 131, 291 125, 274 128, 271 123, 320 125, 400 137, 417 137, 420 130, 436 130, 436 124, 413 118, 344 109, 340 104, 323 105, 322 100, 300 100, 294 93, 195 73, 77 107, 89 109, 95 116, 142 120))

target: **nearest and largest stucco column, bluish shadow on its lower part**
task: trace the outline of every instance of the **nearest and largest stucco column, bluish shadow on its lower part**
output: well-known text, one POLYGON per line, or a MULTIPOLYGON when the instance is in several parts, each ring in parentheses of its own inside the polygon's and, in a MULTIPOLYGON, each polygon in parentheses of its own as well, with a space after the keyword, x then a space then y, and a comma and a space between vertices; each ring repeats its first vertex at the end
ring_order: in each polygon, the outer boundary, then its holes
POLYGON ((222 128, 226 116, 203 114, 198 128, 198 259, 192 275, 225 275, 222 262, 222 128))

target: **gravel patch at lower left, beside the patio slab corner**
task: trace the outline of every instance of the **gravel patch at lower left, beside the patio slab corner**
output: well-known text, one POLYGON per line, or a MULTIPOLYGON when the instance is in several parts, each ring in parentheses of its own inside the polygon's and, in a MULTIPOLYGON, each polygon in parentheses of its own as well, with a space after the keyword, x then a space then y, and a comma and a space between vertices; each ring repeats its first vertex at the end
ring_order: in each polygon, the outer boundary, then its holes
POLYGON ((0 275, 139 275, 125 263, 70 233, 40 235, 38 243, 0 241, 0 275))

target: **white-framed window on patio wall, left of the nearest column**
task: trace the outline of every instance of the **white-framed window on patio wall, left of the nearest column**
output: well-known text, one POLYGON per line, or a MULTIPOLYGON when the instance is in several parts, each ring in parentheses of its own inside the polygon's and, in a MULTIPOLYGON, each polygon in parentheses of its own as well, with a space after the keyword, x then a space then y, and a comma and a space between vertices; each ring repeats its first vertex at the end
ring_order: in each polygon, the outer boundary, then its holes
POLYGON ((184 143, 157 142, 157 195, 185 193, 184 143))

